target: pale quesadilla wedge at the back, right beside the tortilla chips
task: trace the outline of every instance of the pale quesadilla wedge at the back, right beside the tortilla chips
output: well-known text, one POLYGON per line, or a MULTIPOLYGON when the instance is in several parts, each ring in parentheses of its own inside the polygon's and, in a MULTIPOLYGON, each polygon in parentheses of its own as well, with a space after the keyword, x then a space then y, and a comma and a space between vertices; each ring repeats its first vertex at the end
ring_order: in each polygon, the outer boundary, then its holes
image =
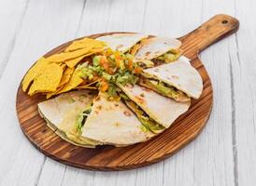
POLYGON ((143 33, 114 33, 98 37, 96 40, 105 42, 113 50, 119 50, 125 53, 131 47, 135 46, 136 43, 147 37, 148 35, 143 33))

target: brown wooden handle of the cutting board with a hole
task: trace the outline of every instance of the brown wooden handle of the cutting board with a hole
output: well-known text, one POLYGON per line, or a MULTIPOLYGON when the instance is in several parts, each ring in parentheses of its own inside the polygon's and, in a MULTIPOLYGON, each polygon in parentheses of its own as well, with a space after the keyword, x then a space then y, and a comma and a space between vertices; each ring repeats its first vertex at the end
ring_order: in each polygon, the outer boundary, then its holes
POLYGON ((200 27, 179 38, 182 42, 185 56, 193 57, 204 50, 207 46, 214 44, 220 39, 235 33, 239 28, 239 20, 235 18, 218 14, 207 20, 200 27))

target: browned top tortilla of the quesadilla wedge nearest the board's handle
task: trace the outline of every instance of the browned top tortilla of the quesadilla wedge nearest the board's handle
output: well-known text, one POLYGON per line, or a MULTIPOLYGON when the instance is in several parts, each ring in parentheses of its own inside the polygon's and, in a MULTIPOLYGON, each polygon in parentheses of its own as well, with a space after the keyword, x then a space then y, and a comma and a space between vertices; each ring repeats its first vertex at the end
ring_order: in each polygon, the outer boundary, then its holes
POLYGON ((143 45, 135 54, 135 60, 152 60, 164 53, 178 49, 181 42, 167 37, 151 37, 143 42, 143 45))

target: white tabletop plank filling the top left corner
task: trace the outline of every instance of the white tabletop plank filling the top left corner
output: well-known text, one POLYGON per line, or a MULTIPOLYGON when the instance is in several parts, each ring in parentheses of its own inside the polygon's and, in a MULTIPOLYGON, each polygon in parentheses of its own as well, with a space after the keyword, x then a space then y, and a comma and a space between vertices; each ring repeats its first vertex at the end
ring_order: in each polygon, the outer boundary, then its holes
POLYGON ((12 52, 17 33, 19 33, 21 29, 21 23, 27 4, 27 0, 0 1, 0 78, 12 52))

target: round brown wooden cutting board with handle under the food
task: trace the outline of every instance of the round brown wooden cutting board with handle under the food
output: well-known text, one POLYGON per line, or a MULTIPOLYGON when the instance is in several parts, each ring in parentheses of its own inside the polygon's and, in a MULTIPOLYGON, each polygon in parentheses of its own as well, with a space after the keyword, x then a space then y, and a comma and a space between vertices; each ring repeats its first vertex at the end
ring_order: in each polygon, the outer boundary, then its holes
MULTIPOLYGON (((77 147, 57 136, 37 112, 37 103, 45 100, 42 96, 29 97, 17 92, 16 109, 21 129, 28 140, 42 153, 69 166, 93 170, 123 170, 147 166, 176 153, 197 137, 211 112, 213 90, 206 68, 199 60, 198 53, 221 38, 235 33, 239 21, 227 15, 217 15, 207 20, 199 28, 180 38, 184 55, 191 59, 192 66, 204 81, 203 94, 199 100, 192 100, 187 113, 182 114, 164 133, 143 143, 128 147, 103 146, 96 149, 77 147)), ((111 33, 93 34, 95 38, 111 33)), ((64 50, 72 41, 58 46, 45 55, 64 50)), ((171 111, 170 111, 171 112, 171 111)))

